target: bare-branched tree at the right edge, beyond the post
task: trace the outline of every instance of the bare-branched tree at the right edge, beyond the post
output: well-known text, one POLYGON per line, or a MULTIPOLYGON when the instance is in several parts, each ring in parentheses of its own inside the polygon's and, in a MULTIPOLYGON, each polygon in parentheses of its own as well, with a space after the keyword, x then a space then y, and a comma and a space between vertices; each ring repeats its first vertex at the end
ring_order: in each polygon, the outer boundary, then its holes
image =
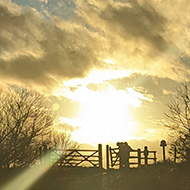
POLYGON ((165 126, 170 129, 171 150, 177 148, 178 157, 182 161, 189 160, 190 150, 190 83, 183 83, 176 89, 167 105, 165 126))

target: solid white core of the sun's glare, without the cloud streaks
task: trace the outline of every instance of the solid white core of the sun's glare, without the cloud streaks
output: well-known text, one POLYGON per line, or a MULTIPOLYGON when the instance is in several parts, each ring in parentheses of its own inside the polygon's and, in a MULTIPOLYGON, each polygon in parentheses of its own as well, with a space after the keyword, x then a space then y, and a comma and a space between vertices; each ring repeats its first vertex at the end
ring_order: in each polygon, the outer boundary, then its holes
POLYGON ((116 90, 113 86, 102 91, 85 92, 83 89, 79 97, 80 114, 75 118, 79 129, 74 132, 73 138, 91 144, 135 138, 138 125, 129 108, 138 107, 141 101, 130 93, 116 90))

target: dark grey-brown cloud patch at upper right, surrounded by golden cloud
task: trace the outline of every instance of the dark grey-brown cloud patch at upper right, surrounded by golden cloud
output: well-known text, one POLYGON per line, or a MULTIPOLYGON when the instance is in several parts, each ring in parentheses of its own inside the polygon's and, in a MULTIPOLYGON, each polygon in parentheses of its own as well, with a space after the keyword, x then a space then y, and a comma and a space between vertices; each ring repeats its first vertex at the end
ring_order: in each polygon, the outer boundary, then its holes
POLYGON ((155 49, 165 51, 168 42, 164 39, 166 18, 148 3, 128 1, 128 6, 107 6, 101 18, 107 21, 110 30, 119 33, 125 40, 144 39, 155 49))

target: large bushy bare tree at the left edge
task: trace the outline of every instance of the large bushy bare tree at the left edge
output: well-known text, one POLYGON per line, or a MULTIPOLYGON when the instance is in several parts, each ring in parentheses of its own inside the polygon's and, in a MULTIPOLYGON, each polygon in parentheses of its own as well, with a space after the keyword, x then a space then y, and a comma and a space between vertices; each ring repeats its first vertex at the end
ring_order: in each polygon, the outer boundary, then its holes
POLYGON ((31 164, 46 143, 53 116, 43 95, 26 89, 0 93, 0 166, 31 164))

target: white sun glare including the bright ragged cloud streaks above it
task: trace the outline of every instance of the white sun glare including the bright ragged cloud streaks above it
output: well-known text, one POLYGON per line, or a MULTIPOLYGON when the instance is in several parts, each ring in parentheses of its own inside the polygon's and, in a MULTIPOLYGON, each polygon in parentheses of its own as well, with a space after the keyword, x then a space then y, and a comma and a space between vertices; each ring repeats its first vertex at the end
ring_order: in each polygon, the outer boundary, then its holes
MULTIPOLYGON (((148 97, 133 88, 116 89, 104 82, 103 78, 108 79, 106 74, 106 71, 92 72, 83 80, 66 81, 54 91, 54 95, 80 105, 75 118, 60 117, 60 123, 75 128, 72 139, 79 143, 115 143, 139 137, 140 124, 131 110, 141 106, 142 100, 148 100, 148 97), (101 80, 97 81, 98 78, 101 80), (89 84, 96 87, 90 88, 89 84)), ((109 73, 109 77, 118 78, 118 74, 126 76, 129 73, 118 71, 109 73)))

